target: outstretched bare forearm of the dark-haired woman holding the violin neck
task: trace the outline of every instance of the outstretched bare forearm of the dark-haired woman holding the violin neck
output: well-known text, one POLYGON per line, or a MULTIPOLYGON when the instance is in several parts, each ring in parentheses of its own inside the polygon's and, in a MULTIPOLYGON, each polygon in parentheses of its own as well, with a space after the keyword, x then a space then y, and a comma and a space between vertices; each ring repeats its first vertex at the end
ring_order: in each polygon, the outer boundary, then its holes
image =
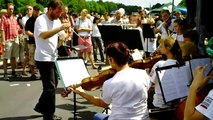
POLYGON ((108 104, 106 104, 102 99, 96 96, 92 96, 90 94, 87 94, 83 89, 77 88, 76 90, 73 90, 76 94, 79 94, 83 98, 85 98, 88 102, 94 104, 95 106, 99 107, 107 107, 108 104))

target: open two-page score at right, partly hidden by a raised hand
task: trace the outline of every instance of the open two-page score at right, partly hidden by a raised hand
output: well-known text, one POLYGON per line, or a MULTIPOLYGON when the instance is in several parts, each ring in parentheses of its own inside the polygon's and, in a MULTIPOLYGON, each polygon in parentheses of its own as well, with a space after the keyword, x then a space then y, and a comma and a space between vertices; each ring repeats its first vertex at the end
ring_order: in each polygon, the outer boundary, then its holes
MULTIPOLYGON (((195 58, 185 62, 185 65, 170 65, 156 68, 160 89, 165 103, 188 96, 188 88, 193 80, 195 68, 207 65, 204 76, 212 71, 211 58, 195 58)), ((211 79, 209 83, 213 83, 211 79)))

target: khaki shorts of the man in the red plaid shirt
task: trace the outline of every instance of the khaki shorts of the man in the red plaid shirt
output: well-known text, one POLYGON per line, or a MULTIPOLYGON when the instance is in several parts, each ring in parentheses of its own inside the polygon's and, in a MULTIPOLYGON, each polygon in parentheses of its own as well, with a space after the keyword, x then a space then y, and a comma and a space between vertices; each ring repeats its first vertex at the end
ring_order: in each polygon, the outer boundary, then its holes
POLYGON ((6 40, 4 54, 2 55, 3 59, 19 57, 19 40, 18 37, 15 40, 6 40))

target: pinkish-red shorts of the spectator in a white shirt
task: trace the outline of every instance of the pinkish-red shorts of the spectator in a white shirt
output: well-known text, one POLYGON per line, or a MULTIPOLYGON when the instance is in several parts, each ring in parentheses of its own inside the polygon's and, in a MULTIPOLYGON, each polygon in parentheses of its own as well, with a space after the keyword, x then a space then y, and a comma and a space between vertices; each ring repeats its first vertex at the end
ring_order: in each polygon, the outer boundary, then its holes
POLYGON ((89 52, 89 53, 93 52, 91 37, 78 37, 78 45, 86 46, 87 47, 86 51, 89 52))

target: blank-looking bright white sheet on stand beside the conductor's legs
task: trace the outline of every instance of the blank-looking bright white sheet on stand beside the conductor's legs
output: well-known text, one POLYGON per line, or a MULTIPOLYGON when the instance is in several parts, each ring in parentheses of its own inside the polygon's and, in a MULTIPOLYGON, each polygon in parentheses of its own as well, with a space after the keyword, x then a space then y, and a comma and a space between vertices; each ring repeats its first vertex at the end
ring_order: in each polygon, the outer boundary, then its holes
POLYGON ((64 87, 81 83, 82 79, 90 77, 83 59, 57 60, 55 64, 64 87))

